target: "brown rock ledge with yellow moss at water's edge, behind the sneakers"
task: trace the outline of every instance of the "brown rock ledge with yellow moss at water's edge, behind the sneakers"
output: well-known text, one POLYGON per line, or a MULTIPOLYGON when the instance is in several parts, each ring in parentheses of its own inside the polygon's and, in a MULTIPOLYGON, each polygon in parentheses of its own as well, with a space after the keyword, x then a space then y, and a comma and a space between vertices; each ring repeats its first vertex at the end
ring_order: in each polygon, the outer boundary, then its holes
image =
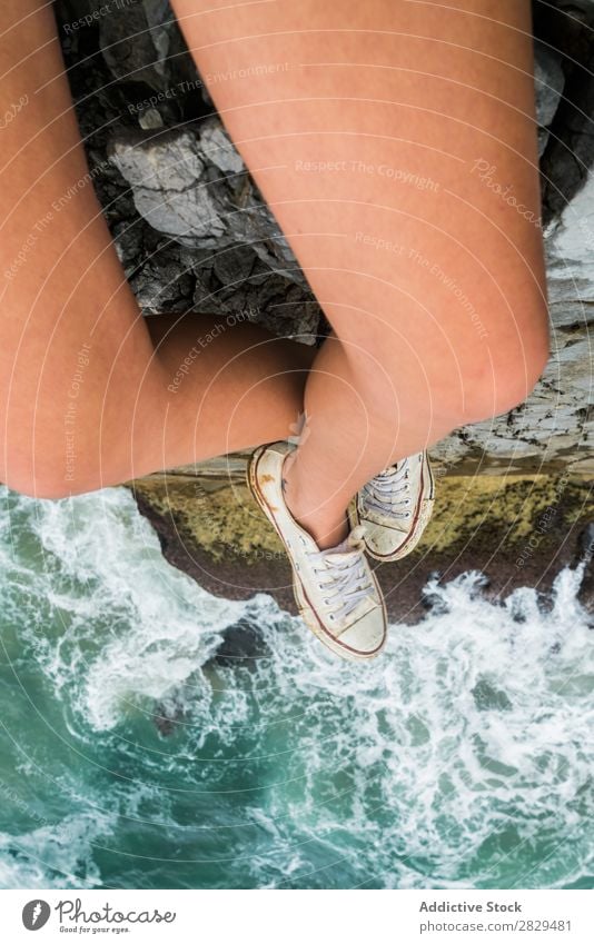
MULTIPOLYGON (((218 480, 209 464, 192 475, 136 480, 131 487, 139 508, 166 559, 205 589, 226 599, 248 599, 264 590, 295 613, 283 546, 250 497, 239 461, 231 480, 224 465, 218 480)), ((467 586, 473 594, 501 599, 532 586, 546 604, 560 569, 582 562, 594 537, 592 480, 583 476, 439 476, 436 494, 418 548, 377 570, 392 620, 416 623, 427 609, 439 612, 445 604, 438 584, 468 572, 475 572, 467 586)), ((592 563, 580 598, 584 606, 594 605, 592 563)), ((242 658, 248 666, 250 658, 267 655, 249 617, 227 633, 215 663, 221 658, 237 665, 242 658)))

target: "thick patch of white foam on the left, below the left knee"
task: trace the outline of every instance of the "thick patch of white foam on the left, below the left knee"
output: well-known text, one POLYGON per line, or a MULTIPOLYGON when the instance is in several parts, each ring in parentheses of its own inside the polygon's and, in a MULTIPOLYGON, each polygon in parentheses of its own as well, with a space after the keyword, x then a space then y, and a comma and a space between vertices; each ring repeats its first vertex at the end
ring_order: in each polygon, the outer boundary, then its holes
POLYGON ((57 638, 38 637, 39 653, 97 731, 130 702, 167 698, 191 679, 245 612, 167 564, 128 489, 20 503, 44 553, 38 594, 60 627, 57 638))

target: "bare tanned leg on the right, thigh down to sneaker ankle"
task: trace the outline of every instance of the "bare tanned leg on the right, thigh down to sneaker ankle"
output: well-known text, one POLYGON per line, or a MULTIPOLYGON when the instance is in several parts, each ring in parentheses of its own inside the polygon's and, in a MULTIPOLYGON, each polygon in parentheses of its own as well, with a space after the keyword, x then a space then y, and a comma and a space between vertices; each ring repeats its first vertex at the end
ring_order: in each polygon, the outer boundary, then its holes
POLYGON ((174 0, 336 338, 287 471, 320 546, 389 463, 548 354, 528 0, 174 0))

